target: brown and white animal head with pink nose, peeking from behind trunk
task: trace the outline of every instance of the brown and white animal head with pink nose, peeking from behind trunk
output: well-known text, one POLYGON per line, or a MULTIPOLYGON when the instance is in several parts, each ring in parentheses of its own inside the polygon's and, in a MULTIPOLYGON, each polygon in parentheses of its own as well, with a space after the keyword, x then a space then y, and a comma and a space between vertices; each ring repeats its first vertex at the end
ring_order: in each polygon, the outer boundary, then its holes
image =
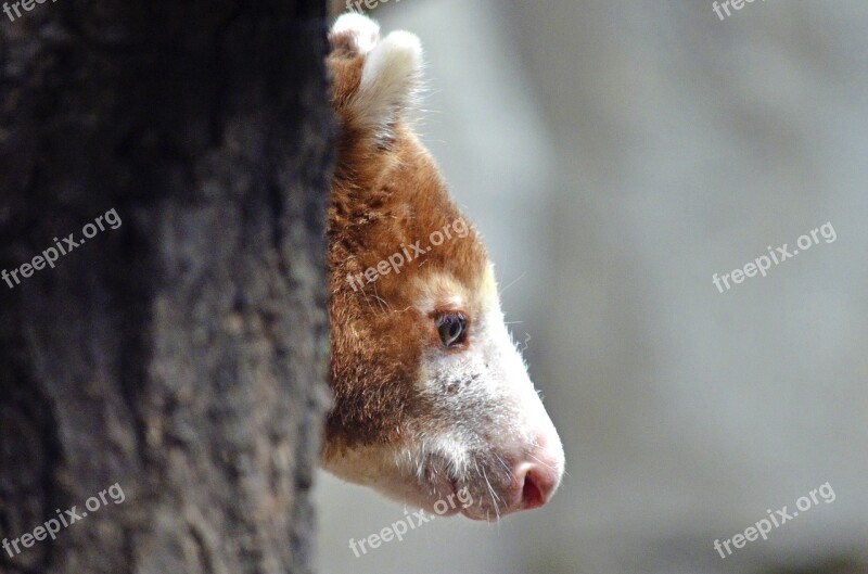
POLYGON ((437 513, 496 520, 542 506, 563 448, 505 324, 482 240, 411 129, 419 39, 381 39, 355 13, 329 39, 340 135, 322 465, 437 513))

